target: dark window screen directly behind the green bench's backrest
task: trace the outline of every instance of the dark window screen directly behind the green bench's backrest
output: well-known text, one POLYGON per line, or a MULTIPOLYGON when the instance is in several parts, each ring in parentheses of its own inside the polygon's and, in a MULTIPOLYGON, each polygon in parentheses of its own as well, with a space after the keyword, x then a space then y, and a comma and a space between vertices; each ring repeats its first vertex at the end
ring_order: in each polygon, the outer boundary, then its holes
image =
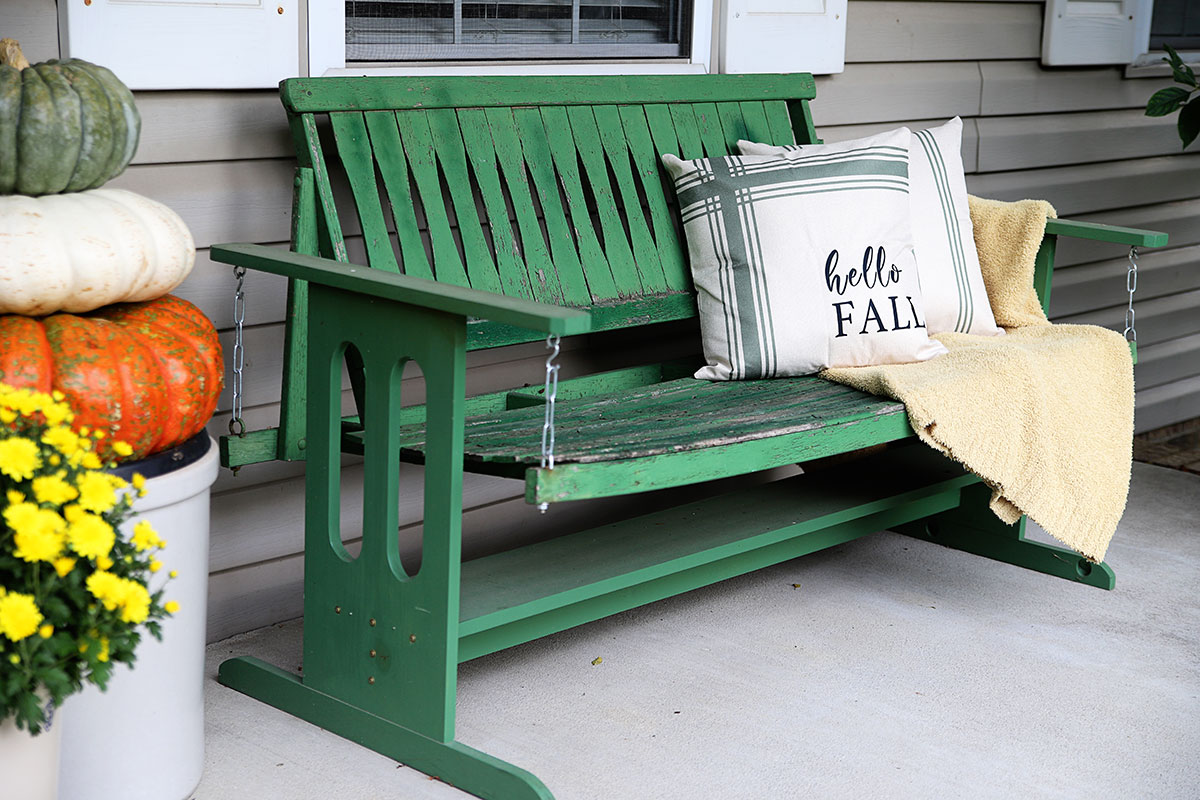
POLYGON ((688 55, 690 0, 347 0, 347 61, 688 55))

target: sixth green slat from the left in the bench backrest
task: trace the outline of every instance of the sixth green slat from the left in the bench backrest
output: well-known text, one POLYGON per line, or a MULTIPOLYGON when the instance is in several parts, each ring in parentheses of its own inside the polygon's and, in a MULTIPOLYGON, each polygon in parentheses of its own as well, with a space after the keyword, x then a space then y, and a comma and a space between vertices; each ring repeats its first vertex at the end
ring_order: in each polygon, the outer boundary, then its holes
POLYGON ((517 133, 516 120, 512 119, 512 109, 490 108, 485 113, 492 128, 492 142, 500 160, 504 182, 512 198, 512 211, 521 233, 521 248, 534 300, 563 302, 563 287, 558 283, 558 272, 550 260, 546 239, 541 235, 541 224, 534 212, 529 174, 526 172, 521 136, 517 133))

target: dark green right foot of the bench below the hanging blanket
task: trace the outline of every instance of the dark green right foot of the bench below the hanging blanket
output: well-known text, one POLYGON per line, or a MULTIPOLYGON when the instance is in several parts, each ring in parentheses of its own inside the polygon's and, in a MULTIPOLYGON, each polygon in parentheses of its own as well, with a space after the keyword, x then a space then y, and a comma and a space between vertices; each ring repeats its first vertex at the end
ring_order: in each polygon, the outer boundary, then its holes
POLYGON ((1108 564, 1096 564, 1064 547, 1025 539, 1025 517, 1015 525, 1006 525, 988 507, 990 499, 991 489, 983 483, 967 486, 958 507, 895 530, 1090 587, 1111 589, 1115 585, 1116 577, 1108 564))

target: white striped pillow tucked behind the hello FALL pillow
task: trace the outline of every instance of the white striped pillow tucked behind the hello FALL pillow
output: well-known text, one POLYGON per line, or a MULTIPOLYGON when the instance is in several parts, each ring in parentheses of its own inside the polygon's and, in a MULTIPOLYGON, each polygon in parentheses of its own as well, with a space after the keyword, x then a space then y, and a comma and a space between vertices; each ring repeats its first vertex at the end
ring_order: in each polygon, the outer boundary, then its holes
MULTIPOLYGON (((841 142, 866 146, 877 137, 841 142)), ((769 145, 738 142, 744 156, 797 158, 829 145, 769 145)), ((912 186, 912 237, 930 333, 1003 333, 988 302, 979 271, 967 182, 962 174, 962 120, 912 133, 908 179, 912 186)))

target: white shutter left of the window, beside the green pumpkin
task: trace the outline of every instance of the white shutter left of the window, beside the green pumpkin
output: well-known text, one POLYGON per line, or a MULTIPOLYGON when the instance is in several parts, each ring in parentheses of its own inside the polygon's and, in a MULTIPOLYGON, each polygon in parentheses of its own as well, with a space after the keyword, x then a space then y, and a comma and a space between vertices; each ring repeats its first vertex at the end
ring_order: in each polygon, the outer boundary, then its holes
POLYGON ((59 0, 62 58, 131 89, 275 88, 299 74, 298 0, 59 0))

